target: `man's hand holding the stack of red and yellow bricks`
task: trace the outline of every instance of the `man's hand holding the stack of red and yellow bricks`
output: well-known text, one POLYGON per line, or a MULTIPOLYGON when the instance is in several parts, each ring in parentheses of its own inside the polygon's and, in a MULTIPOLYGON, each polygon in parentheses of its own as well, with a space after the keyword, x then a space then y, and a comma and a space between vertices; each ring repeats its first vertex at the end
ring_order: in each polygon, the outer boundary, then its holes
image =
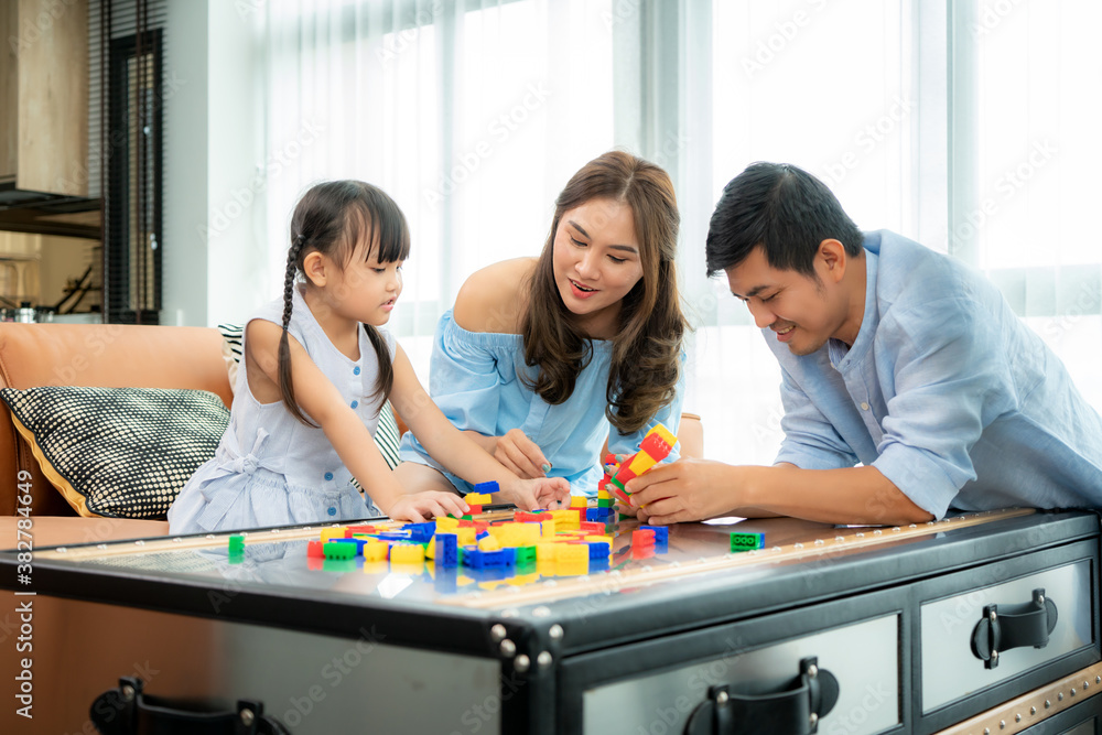
POLYGON ((658 465, 627 484, 629 511, 656 526, 722 516, 738 506, 738 469, 694 458, 658 465))

